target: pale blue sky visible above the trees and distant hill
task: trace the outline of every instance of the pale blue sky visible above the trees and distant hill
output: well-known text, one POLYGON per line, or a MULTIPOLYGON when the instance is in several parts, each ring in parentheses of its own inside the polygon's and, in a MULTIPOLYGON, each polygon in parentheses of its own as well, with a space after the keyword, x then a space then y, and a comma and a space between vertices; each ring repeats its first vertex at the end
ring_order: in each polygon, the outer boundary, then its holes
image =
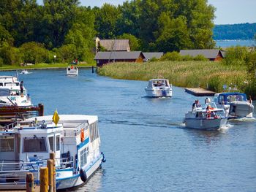
MULTIPOLYGON (((80 5, 122 4, 125 0, 80 0, 80 5)), ((256 0, 208 0, 216 7, 214 24, 256 23, 256 0)))

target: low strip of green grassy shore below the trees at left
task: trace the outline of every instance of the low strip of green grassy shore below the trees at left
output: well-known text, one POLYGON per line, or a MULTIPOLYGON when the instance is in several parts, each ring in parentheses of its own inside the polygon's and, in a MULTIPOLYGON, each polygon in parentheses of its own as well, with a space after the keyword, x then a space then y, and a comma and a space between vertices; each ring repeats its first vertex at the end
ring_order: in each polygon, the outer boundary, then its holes
MULTIPOLYGON (((70 64, 33 64, 29 66, 10 66, 4 65, 0 67, 0 71, 12 71, 12 70, 22 70, 22 69, 65 69, 70 64)), ((78 64, 78 68, 90 68, 91 66, 96 66, 95 64, 78 64)))

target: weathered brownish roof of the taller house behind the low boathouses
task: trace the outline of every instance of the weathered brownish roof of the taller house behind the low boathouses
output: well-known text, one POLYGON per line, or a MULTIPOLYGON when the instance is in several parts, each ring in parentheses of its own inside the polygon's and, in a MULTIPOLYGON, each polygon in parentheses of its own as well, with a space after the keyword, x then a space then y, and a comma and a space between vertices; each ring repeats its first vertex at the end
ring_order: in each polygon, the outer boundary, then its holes
POLYGON ((99 44, 102 47, 105 47, 106 50, 130 50, 129 49, 129 39, 103 39, 99 40, 99 44))

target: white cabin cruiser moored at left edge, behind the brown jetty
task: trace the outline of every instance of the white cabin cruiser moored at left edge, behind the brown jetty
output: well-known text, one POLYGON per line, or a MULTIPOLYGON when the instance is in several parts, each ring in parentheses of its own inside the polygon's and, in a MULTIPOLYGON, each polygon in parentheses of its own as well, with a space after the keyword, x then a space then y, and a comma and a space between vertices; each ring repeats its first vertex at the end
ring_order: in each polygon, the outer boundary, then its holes
POLYGON ((0 76, 0 107, 31 107, 31 99, 23 87, 20 91, 20 82, 17 77, 0 76))

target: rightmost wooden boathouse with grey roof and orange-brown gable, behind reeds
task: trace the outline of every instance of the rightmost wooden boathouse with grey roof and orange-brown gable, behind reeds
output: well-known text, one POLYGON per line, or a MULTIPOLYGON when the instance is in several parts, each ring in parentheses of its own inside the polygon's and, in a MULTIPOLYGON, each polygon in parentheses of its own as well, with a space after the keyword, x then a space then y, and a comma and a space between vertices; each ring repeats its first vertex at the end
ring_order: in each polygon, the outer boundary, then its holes
POLYGON ((196 57, 197 55, 203 55, 208 58, 209 61, 221 61, 224 55, 221 50, 181 50, 180 54, 182 56, 189 55, 196 57))

